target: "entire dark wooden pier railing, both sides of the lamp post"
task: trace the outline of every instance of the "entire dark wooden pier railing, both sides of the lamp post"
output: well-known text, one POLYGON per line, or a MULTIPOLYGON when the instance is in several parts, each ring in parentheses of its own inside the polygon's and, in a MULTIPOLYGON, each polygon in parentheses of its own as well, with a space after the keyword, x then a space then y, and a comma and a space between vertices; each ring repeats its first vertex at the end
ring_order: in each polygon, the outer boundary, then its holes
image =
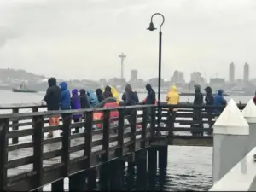
MULTIPOLYGON (((163 104, 160 127, 156 125, 158 111, 153 105, 52 112, 40 112, 39 108, 45 106, 0 108, 15 112, 0 114, 2 190, 42 188, 44 184, 148 148, 157 139, 157 130, 161 131, 162 138, 177 137, 180 134, 191 137, 189 125, 200 123, 193 120, 193 109, 201 109, 202 122, 208 124, 206 109, 216 107, 163 104), (18 113, 20 108, 32 108, 33 113, 18 113), (118 110, 119 117, 110 118, 112 110, 118 110), (93 113, 99 112, 103 113, 103 119, 93 119, 93 113), (83 121, 72 123, 74 114, 83 114, 83 121), (49 117, 55 115, 65 117, 61 125, 49 126, 49 117), (125 124, 127 119, 129 124, 125 124), (111 128, 110 121, 117 121, 118 124, 111 128), (102 129, 93 130, 96 124, 102 124, 102 129), (72 134, 71 129, 76 127, 84 127, 84 131, 72 134), (49 131, 62 131, 63 134, 53 138, 44 137, 49 131)), ((212 123, 214 117, 212 113, 212 123)), ((203 130, 209 131, 212 128, 203 130)))

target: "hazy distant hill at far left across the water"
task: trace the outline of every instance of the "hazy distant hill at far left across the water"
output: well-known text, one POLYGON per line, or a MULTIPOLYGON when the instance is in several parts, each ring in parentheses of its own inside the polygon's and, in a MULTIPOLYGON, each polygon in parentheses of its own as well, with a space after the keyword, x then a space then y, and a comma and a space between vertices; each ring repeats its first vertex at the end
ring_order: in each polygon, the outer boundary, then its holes
POLYGON ((14 79, 37 81, 37 80, 45 79, 45 76, 29 73, 22 69, 15 70, 15 69, 8 68, 8 69, 0 69, 0 79, 2 81, 9 81, 14 79))

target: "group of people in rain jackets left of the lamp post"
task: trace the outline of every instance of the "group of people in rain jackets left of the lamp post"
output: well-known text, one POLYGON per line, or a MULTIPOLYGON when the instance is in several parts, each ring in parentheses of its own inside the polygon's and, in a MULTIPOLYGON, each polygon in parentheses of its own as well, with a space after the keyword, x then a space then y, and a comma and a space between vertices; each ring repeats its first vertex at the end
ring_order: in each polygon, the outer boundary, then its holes
MULTIPOLYGON (((46 90, 44 101, 47 104, 48 111, 55 110, 69 110, 69 109, 80 109, 80 108, 96 108, 103 100, 113 97, 116 102, 123 106, 136 105, 139 102, 137 92, 133 91, 131 84, 126 84, 125 92, 122 96, 123 102, 119 102, 119 93, 111 86, 106 86, 105 90, 96 89, 93 90, 78 90, 73 89, 70 94, 66 82, 61 82, 59 86, 55 78, 48 80, 49 88, 46 90)), ((148 96, 145 99, 146 104, 155 103, 155 92, 150 84, 147 84, 146 89, 148 90, 148 96)), ((65 119, 64 113, 61 115, 62 119, 65 119)), ((73 121, 79 122, 82 118, 81 114, 74 114, 73 121)), ((53 116, 49 118, 49 125, 59 125, 59 116, 53 116)), ((79 128, 76 128, 73 133, 79 132, 79 128)), ((48 137, 53 137, 53 131, 49 131, 48 137)))

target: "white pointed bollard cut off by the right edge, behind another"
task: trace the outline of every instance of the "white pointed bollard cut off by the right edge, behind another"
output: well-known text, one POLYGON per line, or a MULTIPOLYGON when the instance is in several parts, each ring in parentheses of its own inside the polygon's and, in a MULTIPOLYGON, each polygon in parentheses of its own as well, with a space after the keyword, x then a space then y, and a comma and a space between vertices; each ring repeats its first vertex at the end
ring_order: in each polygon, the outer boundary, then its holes
POLYGON ((249 125, 248 152, 256 147, 256 106, 251 99, 247 106, 242 110, 243 117, 249 125))

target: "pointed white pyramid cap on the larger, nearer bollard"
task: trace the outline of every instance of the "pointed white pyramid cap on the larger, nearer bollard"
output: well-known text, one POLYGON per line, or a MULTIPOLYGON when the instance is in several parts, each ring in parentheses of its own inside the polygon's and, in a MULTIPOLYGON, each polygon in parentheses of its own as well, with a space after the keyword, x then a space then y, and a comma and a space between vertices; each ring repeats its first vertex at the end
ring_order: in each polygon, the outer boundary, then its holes
POLYGON ((214 134, 249 135, 249 125, 242 116, 236 102, 230 99, 224 111, 213 125, 214 134))

